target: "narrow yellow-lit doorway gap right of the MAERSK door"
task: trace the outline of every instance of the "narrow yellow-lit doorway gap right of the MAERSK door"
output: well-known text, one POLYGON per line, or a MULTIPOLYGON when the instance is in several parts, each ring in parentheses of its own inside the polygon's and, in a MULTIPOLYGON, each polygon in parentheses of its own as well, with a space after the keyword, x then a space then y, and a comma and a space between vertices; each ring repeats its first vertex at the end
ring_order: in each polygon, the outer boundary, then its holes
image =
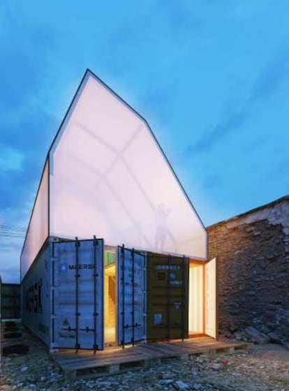
POLYGON ((105 246, 104 257, 104 336, 105 346, 116 344, 117 325, 117 282, 116 249, 105 246))

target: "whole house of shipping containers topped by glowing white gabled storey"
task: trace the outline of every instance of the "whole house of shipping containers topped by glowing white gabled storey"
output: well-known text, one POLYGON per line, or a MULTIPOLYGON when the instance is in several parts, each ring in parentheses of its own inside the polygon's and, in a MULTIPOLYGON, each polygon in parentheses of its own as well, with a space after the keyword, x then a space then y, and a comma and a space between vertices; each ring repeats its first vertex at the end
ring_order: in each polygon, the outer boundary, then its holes
POLYGON ((215 269, 147 122, 87 71, 47 154, 22 249, 24 324, 49 348, 216 337, 215 269))

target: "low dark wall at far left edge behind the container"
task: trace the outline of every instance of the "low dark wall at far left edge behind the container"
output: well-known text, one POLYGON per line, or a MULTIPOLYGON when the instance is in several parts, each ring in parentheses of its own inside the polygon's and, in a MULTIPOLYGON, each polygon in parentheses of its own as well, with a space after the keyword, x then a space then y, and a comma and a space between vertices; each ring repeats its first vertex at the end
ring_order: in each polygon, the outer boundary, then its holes
POLYGON ((1 284, 1 316, 2 319, 20 318, 20 284, 1 284))

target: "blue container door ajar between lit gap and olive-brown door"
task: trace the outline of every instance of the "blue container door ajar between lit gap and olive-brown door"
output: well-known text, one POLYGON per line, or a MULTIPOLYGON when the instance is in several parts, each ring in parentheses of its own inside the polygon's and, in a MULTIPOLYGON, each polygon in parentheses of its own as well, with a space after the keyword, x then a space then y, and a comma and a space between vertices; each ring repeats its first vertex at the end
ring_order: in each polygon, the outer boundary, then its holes
POLYGON ((118 344, 145 340, 145 256, 118 247, 118 344))

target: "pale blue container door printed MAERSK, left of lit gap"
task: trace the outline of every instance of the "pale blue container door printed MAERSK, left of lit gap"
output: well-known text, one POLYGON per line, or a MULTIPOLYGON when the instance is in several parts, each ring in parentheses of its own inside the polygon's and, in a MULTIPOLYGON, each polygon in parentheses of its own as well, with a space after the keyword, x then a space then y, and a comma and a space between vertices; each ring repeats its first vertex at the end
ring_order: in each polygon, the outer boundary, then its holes
POLYGON ((103 239, 56 242, 52 256, 54 347, 103 349, 103 239))

